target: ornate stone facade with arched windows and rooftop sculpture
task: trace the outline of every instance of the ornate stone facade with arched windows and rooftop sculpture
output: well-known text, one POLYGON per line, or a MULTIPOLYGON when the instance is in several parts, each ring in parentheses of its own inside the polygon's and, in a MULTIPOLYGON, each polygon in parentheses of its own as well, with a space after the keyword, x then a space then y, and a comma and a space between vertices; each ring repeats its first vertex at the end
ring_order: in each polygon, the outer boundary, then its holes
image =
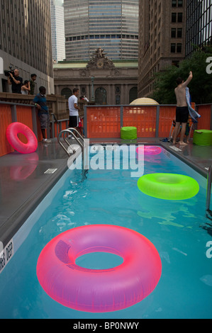
POLYGON ((111 61, 99 47, 89 62, 54 64, 55 94, 72 95, 75 87, 89 103, 128 105, 138 96, 138 62, 111 61))

